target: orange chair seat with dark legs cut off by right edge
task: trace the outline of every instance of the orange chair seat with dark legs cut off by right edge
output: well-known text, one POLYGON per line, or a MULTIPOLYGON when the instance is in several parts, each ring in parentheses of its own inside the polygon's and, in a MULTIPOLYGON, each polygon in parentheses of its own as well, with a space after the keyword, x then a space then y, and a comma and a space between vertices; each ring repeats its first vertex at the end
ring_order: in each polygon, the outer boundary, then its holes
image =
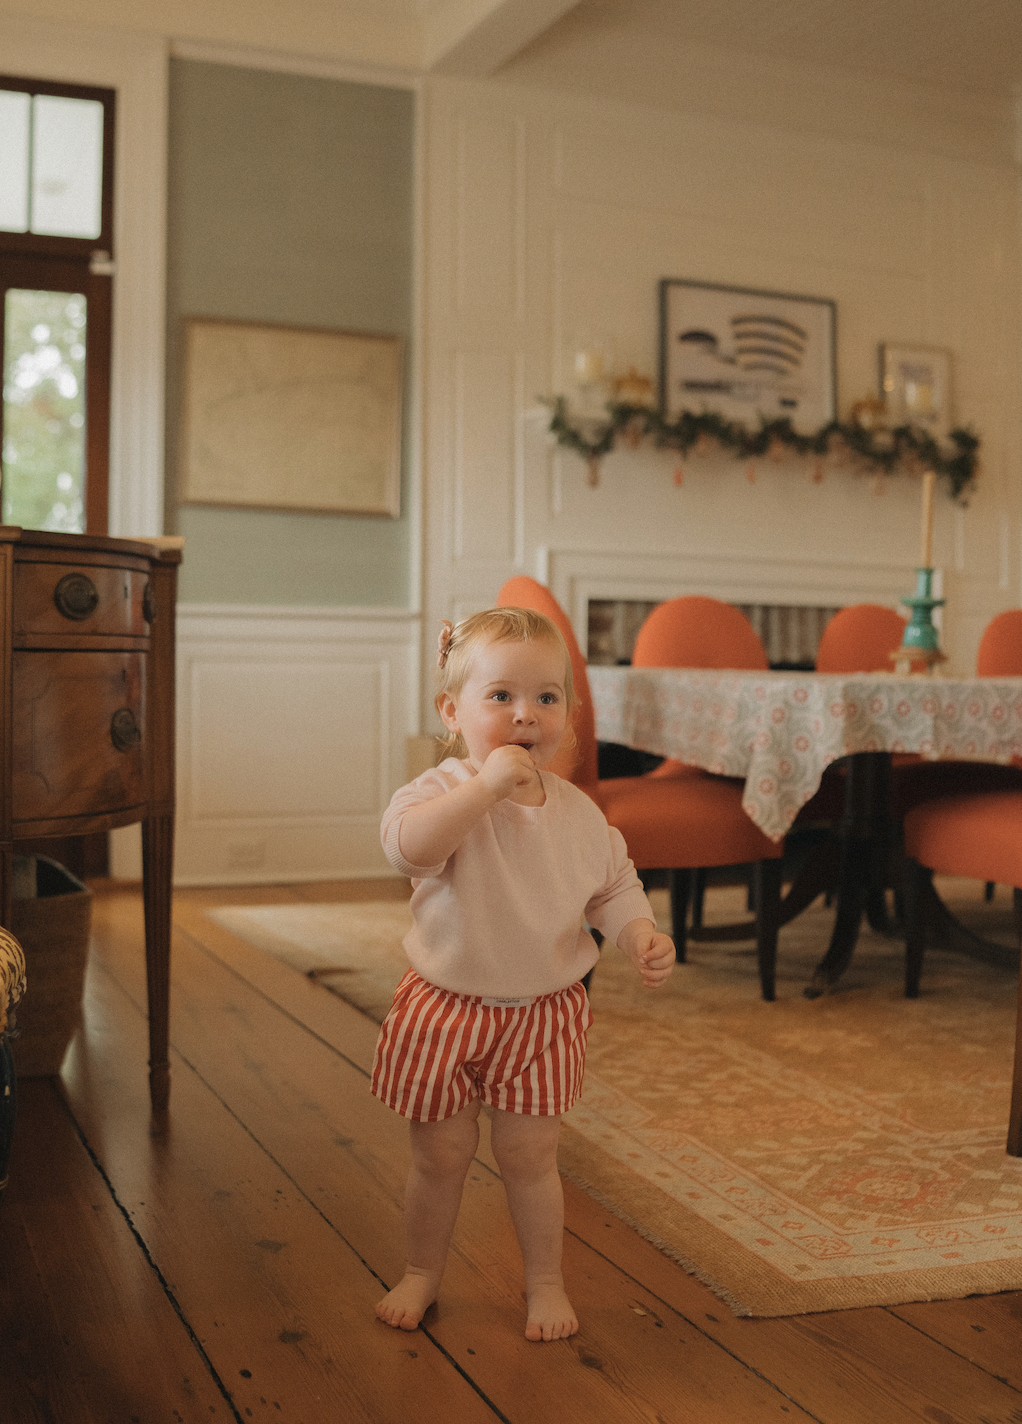
MULTIPOLYGON (((1022 890, 1022 792, 945 796, 914 806, 905 816, 905 994, 920 993, 927 940, 928 881, 948 876, 994 880, 1022 890)), ((1022 984, 1015 1035, 1015 1074, 1008 1152, 1022 1156, 1022 984)))

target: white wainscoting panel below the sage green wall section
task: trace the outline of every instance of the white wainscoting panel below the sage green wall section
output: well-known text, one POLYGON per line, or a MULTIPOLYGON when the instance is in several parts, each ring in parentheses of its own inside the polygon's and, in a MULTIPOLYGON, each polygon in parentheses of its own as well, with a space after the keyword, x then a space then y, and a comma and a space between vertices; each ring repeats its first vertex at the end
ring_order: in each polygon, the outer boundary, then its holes
MULTIPOLYGON (((178 611, 178 884, 390 874, 380 817, 418 731, 418 618, 178 611)), ((131 876, 137 829, 114 836, 131 876)))

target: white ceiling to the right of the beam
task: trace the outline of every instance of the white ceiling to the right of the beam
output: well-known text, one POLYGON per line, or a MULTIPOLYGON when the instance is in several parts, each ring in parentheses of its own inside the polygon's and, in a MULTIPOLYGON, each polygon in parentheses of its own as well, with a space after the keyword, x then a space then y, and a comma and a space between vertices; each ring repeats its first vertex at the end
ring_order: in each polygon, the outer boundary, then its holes
POLYGON ((710 46, 986 95, 1022 83, 1022 0, 581 0, 557 30, 656 38, 665 63, 710 46))

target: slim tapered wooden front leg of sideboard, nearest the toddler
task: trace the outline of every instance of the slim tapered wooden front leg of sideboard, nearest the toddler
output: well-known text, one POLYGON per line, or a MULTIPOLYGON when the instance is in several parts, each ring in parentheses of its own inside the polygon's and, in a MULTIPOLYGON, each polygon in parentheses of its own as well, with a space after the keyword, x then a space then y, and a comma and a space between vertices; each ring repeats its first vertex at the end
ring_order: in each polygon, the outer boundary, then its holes
POLYGON ((171 1094, 171 877, 174 816, 142 822, 142 897, 145 903, 145 971, 149 995, 149 1101, 167 1112, 171 1094))

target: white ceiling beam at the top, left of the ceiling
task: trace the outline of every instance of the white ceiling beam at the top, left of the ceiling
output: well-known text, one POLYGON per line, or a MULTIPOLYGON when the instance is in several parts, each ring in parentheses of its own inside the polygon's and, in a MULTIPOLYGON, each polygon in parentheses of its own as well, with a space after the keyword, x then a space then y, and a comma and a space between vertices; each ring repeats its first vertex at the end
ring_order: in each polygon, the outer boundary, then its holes
POLYGON ((578 0, 433 0, 424 14, 424 67, 485 78, 578 0))

